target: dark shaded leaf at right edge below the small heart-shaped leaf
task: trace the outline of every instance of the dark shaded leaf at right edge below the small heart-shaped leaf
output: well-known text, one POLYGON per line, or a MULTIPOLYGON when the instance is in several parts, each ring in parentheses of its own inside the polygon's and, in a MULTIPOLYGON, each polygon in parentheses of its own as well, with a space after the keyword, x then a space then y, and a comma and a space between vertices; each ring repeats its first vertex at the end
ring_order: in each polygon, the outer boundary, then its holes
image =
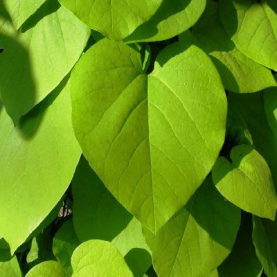
POLYGON ((277 224, 276 221, 265 220, 253 216, 253 243, 256 254, 262 263, 265 274, 277 276, 277 224))

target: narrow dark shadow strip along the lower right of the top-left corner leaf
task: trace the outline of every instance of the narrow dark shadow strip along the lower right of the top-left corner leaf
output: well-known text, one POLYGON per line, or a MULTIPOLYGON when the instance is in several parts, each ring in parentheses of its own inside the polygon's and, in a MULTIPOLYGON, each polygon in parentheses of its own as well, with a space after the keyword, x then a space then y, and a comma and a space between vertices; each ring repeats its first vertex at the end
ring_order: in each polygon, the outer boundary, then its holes
POLYGON ((39 21, 41 21, 47 15, 56 12, 60 8, 60 3, 57 0, 48 0, 42 4, 38 10, 31 15, 21 26, 21 32, 24 33, 26 30, 33 28, 39 21))

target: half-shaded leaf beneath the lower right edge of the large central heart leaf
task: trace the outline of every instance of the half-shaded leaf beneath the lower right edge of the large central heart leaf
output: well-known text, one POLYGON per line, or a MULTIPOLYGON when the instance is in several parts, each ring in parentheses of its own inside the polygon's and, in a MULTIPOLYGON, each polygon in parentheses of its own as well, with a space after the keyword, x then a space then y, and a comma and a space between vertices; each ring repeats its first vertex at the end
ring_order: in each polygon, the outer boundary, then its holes
POLYGON ((208 276, 231 252, 239 226, 240 210, 207 179, 154 238, 158 276, 208 276))

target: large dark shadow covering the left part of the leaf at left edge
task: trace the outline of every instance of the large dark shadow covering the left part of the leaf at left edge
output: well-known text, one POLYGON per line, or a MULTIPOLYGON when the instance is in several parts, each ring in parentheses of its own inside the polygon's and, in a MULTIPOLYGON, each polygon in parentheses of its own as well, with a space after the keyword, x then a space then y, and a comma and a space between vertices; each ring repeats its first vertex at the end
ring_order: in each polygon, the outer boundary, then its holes
POLYGON ((1 101, 17 123, 25 108, 33 107, 35 103, 36 88, 30 58, 26 48, 8 35, 0 34, 0 45, 4 48, 0 55, 1 101))

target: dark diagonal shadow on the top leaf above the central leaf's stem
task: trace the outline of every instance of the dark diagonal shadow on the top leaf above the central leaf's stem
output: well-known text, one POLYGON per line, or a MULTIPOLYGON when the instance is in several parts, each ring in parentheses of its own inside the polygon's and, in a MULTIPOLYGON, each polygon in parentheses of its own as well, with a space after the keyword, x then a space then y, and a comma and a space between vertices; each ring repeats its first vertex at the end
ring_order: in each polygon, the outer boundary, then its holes
POLYGON ((132 42, 135 40, 149 39, 157 35, 157 25, 161 21, 168 19, 168 17, 184 10, 190 2, 191 0, 164 0, 151 19, 141 24, 131 35, 125 37, 123 41, 132 42))

